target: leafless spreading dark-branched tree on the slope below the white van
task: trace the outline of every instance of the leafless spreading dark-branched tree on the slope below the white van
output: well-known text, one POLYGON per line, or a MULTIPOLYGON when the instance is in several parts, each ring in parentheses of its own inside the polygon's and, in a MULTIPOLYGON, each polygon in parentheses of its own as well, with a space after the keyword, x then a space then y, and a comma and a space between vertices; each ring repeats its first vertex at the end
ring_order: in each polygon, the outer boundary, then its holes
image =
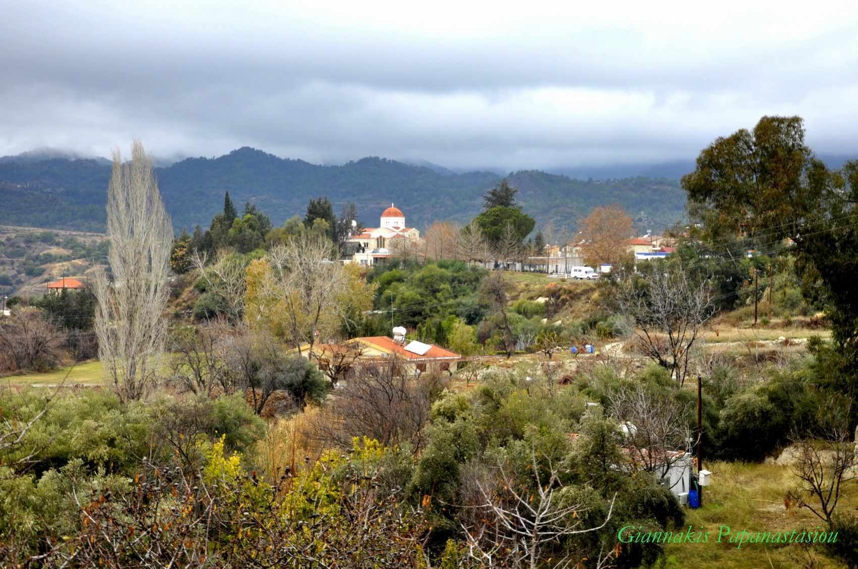
POLYGON ((692 345, 715 313, 706 279, 692 283, 685 271, 659 265, 644 279, 620 282, 616 297, 647 356, 685 383, 692 345))

